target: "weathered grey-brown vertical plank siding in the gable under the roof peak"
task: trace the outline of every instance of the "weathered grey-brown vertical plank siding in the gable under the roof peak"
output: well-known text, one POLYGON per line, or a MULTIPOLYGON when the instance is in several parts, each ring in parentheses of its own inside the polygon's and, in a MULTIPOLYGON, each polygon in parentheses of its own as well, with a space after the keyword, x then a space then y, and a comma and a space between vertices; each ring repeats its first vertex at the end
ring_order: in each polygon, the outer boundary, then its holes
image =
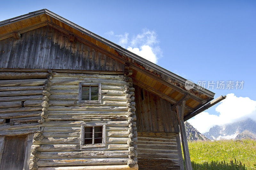
POLYGON ((68 35, 44 26, 21 39, 0 41, 0 68, 124 71, 124 65, 68 35))

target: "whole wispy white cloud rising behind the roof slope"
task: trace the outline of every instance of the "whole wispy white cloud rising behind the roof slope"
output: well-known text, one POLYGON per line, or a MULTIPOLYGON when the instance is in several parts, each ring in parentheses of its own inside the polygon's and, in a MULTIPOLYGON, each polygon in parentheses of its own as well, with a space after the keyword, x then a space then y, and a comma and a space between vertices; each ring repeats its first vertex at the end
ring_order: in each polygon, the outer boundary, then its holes
POLYGON ((158 58, 162 56, 162 50, 157 46, 159 41, 155 31, 142 29, 142 33, 133 36, 131 41, 129 41, 129 33, 115 35, 113 31, 109 31, 105 34, 118 45, 153 63, 157 63, 158 58))

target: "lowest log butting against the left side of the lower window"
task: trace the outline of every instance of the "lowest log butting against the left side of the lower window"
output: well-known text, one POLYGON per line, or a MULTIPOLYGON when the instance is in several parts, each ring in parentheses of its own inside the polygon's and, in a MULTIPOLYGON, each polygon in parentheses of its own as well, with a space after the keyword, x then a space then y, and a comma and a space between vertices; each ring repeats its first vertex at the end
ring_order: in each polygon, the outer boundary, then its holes
POLYGON ((80 137, 44 137, 33 144, 80 144, 80 140, 80 137))

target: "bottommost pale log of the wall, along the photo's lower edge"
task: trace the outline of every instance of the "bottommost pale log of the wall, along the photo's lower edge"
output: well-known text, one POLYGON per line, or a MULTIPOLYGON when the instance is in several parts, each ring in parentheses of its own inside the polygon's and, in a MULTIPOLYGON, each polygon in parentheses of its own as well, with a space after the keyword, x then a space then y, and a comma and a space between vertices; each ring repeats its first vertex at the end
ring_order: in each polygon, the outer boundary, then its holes
POLYGON ((38 170, 138 170, 138 164, 132 168, 128 165, 94 165, 94 166, 55 166, 39 167, 38 170))

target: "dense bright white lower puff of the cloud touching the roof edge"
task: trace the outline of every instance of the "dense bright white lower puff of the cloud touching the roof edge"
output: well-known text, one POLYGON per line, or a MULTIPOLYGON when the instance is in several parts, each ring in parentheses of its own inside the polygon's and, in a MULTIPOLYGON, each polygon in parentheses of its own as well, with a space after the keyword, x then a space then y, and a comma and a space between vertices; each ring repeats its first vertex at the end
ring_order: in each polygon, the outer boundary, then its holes
POLYGON ((149 47, 148 45, 144 45, 140 49, 139 48, 132 48, 132 47, 128 47, 127 49, 129 51, 147 59, 148 61, 151 61, 153 63, 157 62, 156 54, 153 53, 152 48, 149 47))

